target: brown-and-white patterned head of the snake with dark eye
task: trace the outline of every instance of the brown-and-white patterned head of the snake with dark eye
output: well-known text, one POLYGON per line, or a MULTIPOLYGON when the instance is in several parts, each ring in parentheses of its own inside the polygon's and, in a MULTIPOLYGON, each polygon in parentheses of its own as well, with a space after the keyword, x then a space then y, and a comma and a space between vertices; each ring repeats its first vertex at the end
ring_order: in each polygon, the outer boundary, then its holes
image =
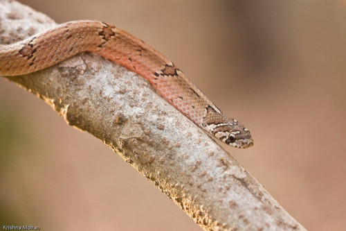
POLYGON ((217 108, 212 107, 206 110, 203 125, 207 132, 236 148, 253 146, 253 138, 250 131, 236 119, 230 119, 226 114, 217 110, 217 108))

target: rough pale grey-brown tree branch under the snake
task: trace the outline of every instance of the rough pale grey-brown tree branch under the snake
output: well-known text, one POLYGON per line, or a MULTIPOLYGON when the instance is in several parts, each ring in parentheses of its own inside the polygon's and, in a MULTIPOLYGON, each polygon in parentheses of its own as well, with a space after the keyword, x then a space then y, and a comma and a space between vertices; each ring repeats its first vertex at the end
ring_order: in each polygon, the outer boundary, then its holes
MULTIPOLYGON (((0 44, 53 26, 40 12, 0 0, 0 44)), ((131 71, 84 53, 4 78, 101 139, 204 230, 305 230, 244 167, 131 71)))

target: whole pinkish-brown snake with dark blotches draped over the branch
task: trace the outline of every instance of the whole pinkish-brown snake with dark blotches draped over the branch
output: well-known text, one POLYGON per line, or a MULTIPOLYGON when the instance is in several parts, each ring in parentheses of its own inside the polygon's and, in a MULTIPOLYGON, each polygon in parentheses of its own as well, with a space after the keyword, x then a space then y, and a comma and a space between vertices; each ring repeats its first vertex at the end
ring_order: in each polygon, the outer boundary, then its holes
POLYGON ((163 99, 230 146, 253 146, 251 132, 228 117, 172 61, 143 40, 104 22, 66 22, 13 44, 0 44, 0 76, 51 67, 82 52, 101 55, 145 78, 163 99))

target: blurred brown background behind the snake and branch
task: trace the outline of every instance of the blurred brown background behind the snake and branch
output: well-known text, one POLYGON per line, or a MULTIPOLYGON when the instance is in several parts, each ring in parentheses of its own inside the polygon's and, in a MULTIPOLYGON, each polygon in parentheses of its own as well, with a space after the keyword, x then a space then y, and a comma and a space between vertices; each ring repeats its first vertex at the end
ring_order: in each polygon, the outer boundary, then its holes
MULTIPOLYGON (((309 230, 345 229, 346 3, 21 1, 56 22, 97 19, 161 51, 255 146, 224 146, 309 230)), ((199 230, 111 149, 0 78, 1 225, 199 230)))

